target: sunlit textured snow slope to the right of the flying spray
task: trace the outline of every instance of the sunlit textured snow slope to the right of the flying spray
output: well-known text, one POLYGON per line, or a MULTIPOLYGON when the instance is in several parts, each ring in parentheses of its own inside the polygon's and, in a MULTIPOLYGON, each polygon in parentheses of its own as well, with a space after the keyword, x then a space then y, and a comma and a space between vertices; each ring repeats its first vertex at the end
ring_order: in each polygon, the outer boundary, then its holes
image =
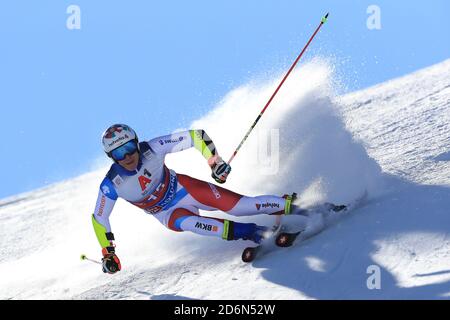
POLYGON ((384 171, 418 183, 448 185, 449 74, 447 60, 342 98, 349 130, 384 171))

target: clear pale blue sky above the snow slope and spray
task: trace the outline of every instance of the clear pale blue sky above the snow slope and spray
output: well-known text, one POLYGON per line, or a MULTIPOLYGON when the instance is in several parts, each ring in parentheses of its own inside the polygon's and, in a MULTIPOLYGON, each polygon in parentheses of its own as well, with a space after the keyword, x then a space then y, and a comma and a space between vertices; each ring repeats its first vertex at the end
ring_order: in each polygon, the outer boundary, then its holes
POLYGON ((231 89, 283 72, 328 11, 305 58, 333 57, 348 91, 443 61, 448 9, 445 0, 3 1, 0 198, 88 171, 111 123, 142 138, 187 127, 231 89), (66 27, 71 4, 79 30, 66 27), (369 5, 381 10, 380 30, 366 26, 369 5))

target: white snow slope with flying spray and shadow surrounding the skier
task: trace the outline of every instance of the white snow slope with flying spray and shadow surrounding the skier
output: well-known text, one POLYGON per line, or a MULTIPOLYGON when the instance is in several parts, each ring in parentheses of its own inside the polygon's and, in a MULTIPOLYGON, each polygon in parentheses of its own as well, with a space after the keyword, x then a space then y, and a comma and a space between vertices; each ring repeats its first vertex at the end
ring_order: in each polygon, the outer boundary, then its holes
MULTIPOLYGON (((228 157, 280 75, 271 78, 231 91, 191 127, 205 129, 228 157)), ((367 190, 359 210, 301 245, 243 264, 250 243, 175 233, 119 201, 111 224, 123 271, 109 276, 79 259, 100 258, 90 214, 105 167, 0 201, 0 299, 448 299, 450 60, 343 97, 333 79, 321 59, 298 68, 225 186, 247 195, 296 191, 304 206, 367 190), (368 289, 371 266, 380 289, 368 289)), ((211 181, 195 150, 167 164, 211 181)))

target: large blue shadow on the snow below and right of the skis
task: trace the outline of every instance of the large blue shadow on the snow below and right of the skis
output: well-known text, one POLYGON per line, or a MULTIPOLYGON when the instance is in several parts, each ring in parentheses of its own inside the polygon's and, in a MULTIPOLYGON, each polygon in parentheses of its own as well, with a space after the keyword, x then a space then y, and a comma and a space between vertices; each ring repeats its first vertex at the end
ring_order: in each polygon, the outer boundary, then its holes
POLYGON ((425 260, 433 250, 450 253, 450 188, 399 184, 397 191, 372 199, 321 234, 261 257, 253 266, 266 269, 266 280, 313 299, 448 299, 450 266, 434 267, 425 260), (430 235, 442 239, 439 247, 439 240, 434 247, 420 240, 430 235), (404 236, 407 242, 396 242, 404 236), (387 253, 383 241, 390 243, 389 250, 398 246, 387 253), (381 271, 380 289, 368 288, 368 267, 374 265, 381 271))

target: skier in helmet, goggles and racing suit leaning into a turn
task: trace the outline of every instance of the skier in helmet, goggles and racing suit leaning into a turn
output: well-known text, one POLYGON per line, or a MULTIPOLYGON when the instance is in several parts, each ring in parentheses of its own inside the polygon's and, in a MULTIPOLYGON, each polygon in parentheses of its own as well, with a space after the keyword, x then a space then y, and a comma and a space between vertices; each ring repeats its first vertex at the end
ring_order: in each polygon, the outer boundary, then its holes
POLYGON ((167 153, 195 147, 207 160, 214 180, 225 183, 231 167, 222 160, 204 130, 188 130, 139 142, 133 129, 115 124, 105 131, 102 143, 114 164, 100 185, 92 223, 102 247, 105 273, 113 274, 121 269, 109 223, 119 197, 151 214, 173 231, 255 243, 262 241, 269 228, 200 216, 199 210, 221 210, 233 216, 287 215, 301 211, 292 204, 292 195, 244 196, 167 168, 164 163, 167 153))

